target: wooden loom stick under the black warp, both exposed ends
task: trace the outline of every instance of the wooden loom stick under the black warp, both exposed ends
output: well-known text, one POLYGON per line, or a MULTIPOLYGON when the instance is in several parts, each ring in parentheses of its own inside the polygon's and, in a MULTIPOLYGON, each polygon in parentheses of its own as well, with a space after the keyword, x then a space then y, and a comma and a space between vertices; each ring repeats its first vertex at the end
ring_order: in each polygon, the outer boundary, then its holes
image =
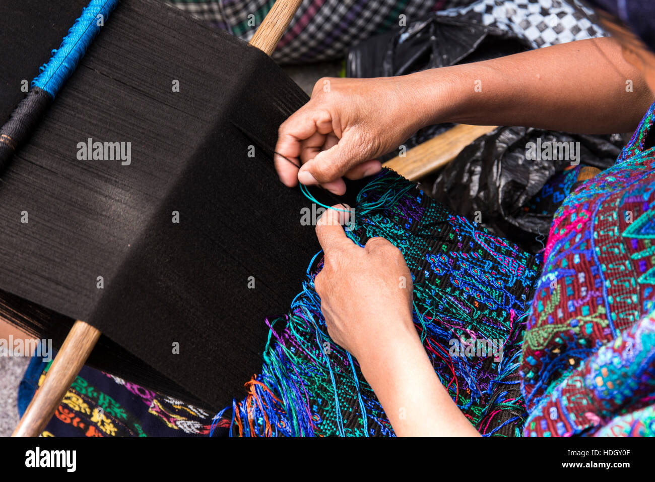
MULTIPOLYGON (((301 1, 276 0, 257 28, 250 45, 270 56, 301 1)), ((98 329, 84 321, 75 322, 12 437, 38 437, 43 432, 99 338, 98 329)))

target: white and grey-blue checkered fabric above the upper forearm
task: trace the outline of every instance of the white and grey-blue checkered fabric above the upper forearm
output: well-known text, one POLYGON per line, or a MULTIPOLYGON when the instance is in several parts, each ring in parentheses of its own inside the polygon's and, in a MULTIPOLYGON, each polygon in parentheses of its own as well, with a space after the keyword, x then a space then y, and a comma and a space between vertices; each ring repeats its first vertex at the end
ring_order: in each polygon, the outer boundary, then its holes
POLYGON ((534 49, 607 35, 593 23, 593 10, 576 0, 481 0, 439 14, 513 32, 534 49))

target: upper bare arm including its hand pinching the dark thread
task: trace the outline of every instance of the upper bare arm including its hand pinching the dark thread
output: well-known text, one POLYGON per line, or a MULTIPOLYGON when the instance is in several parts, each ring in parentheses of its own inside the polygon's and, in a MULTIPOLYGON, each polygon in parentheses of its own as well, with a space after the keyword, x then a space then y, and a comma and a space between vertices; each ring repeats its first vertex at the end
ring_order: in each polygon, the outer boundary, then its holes
POLYGON ((276 145, 303 166, 276 156, 276 168, 287 186, 322 184, 343 194, 341 176, 375 174, 381 169, 376 157, 426 125, 629 132, 652 101, 641 71, 609 38, 400 77, 321 79, 310 102, 280 126, 276 145))

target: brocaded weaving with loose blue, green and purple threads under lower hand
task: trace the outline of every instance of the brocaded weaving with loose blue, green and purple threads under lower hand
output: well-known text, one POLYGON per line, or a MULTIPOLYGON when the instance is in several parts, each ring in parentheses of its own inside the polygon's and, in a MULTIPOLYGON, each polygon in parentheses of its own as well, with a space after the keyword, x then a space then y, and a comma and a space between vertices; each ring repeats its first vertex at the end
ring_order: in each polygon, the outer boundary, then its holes
MULTIPOLYGON (((353 241, 382 236, 403 252, 417 331, 453 400, 483 435, 519 434, 522 320, 537 260, 394 172, 362 190, 355 212, 353 241)), ((313 281, 321 268, 317 254, 288 315, 267 321, 262 371, 215 427, 229 420, 231 435, 244 436, 394 435, 357 362, 327 335, 313 281)))

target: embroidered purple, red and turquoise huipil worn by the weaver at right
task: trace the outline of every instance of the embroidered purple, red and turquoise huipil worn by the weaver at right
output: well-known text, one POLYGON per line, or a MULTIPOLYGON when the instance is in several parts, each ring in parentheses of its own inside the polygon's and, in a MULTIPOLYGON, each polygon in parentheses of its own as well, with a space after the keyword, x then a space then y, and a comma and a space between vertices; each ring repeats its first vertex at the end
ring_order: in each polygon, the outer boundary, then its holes
POLYGON ((555 214, 523 343, 524 435, 655 435, 654 111, 555 214))

